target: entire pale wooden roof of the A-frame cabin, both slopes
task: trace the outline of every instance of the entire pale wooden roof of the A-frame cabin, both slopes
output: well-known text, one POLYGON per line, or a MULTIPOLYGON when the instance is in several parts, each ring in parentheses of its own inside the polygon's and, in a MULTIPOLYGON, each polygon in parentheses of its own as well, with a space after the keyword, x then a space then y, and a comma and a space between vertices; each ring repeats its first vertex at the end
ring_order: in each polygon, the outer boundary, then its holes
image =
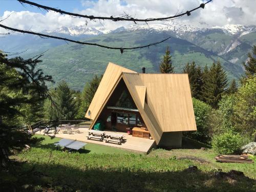
POLYGON ((89 107, 92 119, 97 120, 121 78, 157 144, 163 132, 197 130, 187 74, 136 73, 113 63, 89 107))

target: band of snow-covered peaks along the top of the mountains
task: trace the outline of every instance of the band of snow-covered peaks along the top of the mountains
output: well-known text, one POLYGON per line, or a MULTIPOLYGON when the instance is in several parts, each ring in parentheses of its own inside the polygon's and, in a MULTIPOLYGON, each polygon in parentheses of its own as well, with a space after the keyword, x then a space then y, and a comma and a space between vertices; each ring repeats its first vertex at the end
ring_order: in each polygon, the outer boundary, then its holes
POLYGON ((242 36, 250 32, 256 32, 256 26, 243 26, 243 25, 225 25, 223 27, 218 26, 206 26, 205 24, 200 24, 198 27, 193 25, 187 25, 178 23, 176 21, 164 22, 162 24, 131 24, 117 28, 115 30, 106 30, 104 28, 93 28, 87 26, 72 26, 72 27, 60 27, 59 29, 52 31, 45 31, 47 33, 62 33, 71 36, 80 35, 101 35, 106 33, 119 33, 122 31, 137 31, 137 30, 147 30, 152 32, 164 32, 169 31, 176 35, 176 37, 182 37, 187 33, 203 33, 210 30, 220 30, 231 36, 242 36))

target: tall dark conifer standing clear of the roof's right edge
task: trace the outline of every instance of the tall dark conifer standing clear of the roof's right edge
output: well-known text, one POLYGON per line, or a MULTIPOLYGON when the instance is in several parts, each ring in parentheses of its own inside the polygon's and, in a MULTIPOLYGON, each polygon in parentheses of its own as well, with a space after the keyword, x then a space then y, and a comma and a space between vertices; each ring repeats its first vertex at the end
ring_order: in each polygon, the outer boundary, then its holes
POLYGON ((226 92, 227 87, 227 76, 226 72, 223 70, 220 61, 217 64, 213 63, 210 70, 207 72, 205 69, 204 74, 204 100, 212 106, 212 108, 217 109, 218 103, 222 95, 226 92))

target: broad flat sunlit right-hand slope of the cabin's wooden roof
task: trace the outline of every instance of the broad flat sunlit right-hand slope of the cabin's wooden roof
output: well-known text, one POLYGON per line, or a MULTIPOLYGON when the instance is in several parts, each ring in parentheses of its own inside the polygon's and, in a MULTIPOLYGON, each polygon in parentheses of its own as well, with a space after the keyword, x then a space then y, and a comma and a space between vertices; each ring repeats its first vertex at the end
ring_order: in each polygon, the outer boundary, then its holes
POLYGON ((196 131, 187 74, 124 73, 131 87, 145 86, 147 104, 162 132, 196 131), (136 76, 136 78, 135 78, 136 76))

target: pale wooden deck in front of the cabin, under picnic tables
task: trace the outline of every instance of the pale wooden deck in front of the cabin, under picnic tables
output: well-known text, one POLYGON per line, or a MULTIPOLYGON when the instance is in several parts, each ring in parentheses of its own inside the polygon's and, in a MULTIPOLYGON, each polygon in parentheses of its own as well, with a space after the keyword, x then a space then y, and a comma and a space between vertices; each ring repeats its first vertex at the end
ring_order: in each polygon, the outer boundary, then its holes
MULTIPOLYGON (((113 146, 113 147, 123 148, 125 150, 132 150, 132 151, 138 151, 138 152, 144 152, 144 153, 147 153, 152 148, 155 142, 155 140, 152 140, 152 139, 143 139, 139 137, 133 137, 132 135, 128 135, 127 133, 105 131, 106 133, 123 134, 124 139, 126 139, 126 141, 124 141, 119 145, 115 143, 106 143, 105 141, 87 139, 88 131, 89 131, 88 128, 79 128, 79 131, 80 133, 75 133, 75 134, 63 134, 59 132, 58 134, 55 134, 55 137, 73 139, 73 140, 76 139, 77 141, 101 144, 106 146, 113 146)), ((44 135, 42 131, 41 132, 38 131, 36 132, 36 134, 44 135)), ((54 134, 50 133, 49 135, 53 136, 54 134)))

